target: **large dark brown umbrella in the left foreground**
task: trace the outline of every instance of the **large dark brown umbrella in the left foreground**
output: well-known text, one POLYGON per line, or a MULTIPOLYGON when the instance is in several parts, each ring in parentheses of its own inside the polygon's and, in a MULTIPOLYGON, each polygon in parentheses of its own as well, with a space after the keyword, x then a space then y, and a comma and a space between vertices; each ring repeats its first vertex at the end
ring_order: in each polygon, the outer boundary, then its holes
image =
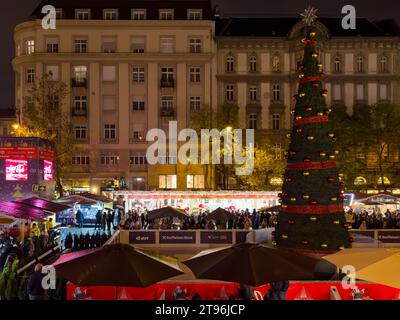
POLYGON ((127 244, 65 254, 53 266, 58 277, 81 286, 147 287, 183 273, 175 259, 127 244))

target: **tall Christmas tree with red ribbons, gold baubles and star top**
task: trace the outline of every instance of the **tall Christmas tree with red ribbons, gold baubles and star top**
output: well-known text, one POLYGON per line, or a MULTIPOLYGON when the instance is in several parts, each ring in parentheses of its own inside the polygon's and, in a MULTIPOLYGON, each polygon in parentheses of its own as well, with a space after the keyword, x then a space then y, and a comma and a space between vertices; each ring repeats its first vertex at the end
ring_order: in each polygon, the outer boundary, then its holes
POLYGON ((278 246, 315 254, 349 247, 343 210, 344 195, 336 168, 336 137, 329 122, 327 91, 316 50, 315 10, 304 16, 307 24, 304 58, 299 65, 299 88, 290 134, 281 210, 275 231, 278 246))

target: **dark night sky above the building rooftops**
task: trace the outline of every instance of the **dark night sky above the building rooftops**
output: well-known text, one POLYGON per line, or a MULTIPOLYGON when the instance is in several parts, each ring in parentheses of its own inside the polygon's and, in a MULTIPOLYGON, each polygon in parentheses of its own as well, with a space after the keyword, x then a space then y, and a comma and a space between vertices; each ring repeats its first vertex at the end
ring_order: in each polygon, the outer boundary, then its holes
MULTIPOLYGON (((1 3, 0 108, 14 106, 14 74, 11 67, 14 56, 13 28, 28 17, 39 3, 40 0, 11 0, 1 3)), ((223 16, 269 17, 298 16, 308 4, 319 9, 319 16, 337 17, 341 15, 342 6, 351 4, 356 7, 358 17, 371 20, 392 18, 400 24, 399 0, 213 0, 213 4, 220 6, 223 16)))

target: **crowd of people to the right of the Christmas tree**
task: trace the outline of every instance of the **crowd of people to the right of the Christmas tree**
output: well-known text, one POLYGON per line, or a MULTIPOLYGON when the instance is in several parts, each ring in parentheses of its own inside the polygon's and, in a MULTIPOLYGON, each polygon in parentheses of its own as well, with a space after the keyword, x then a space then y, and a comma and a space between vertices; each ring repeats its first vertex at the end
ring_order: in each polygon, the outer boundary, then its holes
POLYGON ((346 212, 346 221, 351 224, 352 229, 400 229, 400 211, 384 213, 362 211, 354 212, 348 210, 346 212))

